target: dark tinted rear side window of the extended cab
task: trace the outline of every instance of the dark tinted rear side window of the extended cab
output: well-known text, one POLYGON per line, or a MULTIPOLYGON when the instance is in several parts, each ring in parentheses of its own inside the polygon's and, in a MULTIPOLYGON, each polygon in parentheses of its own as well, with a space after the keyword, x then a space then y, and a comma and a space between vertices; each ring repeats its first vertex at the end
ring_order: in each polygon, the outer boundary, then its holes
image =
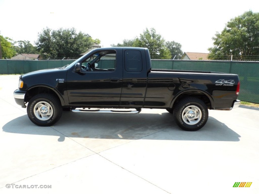
POLYGON ((127 72, 141 72, 142 58, 139 50, 125 50, 125 70, 127 72))

